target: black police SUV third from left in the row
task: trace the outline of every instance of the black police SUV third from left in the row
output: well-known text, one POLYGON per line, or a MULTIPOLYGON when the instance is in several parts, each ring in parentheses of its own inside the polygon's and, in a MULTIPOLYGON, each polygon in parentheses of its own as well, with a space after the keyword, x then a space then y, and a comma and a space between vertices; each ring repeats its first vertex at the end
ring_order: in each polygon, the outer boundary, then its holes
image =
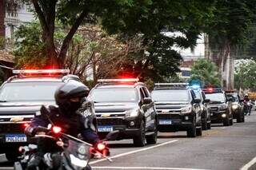
POLYGON ((157 83, 151 93, 158 112, 158 131, 186 131, 187 136, 202 136, 201 99, 187 84, 157 83))

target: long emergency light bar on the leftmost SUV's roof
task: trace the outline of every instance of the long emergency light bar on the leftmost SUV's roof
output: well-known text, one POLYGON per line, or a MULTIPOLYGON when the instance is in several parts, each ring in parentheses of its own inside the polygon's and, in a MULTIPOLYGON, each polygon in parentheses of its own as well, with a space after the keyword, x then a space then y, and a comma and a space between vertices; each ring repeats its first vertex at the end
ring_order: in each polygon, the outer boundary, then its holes
POLYGON ((13 73, 32 73, 32 74, 40 74, 40 73, 70 73, 70 69, 14 69, 13 73))

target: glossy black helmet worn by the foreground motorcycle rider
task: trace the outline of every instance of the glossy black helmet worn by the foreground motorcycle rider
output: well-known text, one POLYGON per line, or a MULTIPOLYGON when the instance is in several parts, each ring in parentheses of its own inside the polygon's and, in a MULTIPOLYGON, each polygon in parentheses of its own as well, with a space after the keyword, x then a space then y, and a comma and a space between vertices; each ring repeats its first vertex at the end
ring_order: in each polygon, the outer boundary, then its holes
POLYGON ((79 81, 67 81, 55 91, 55 101, 62 113, 70 115, 77 111, 90 89, 79 81))

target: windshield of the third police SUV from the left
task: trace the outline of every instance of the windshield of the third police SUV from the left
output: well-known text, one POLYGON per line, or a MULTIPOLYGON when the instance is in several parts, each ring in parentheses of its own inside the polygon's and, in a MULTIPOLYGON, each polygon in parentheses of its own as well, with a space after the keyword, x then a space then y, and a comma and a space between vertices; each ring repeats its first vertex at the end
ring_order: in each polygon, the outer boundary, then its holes
POLYGON ((187 90, 153 90, 152 98, 154 101, 190 101, 187 90))

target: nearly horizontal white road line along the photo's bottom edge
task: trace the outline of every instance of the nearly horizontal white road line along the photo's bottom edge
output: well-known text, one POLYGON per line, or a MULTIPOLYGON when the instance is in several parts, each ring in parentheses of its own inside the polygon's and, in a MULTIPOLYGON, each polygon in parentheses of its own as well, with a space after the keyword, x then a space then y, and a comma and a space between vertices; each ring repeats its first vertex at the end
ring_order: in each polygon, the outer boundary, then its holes
POLYGON ((166 168, 166 167, 92 167, 93 169, 154 169, 154 170, 207 170, 198 168, 166 168))

